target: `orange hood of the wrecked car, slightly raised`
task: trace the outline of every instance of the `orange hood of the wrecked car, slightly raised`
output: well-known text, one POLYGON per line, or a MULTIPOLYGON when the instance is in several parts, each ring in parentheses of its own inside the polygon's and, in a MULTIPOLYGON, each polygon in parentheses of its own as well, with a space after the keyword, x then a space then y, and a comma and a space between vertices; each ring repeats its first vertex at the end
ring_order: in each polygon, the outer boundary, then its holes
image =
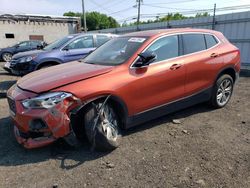
POLYGON ((105 74, 113 68, 113 66, 93 65, 75 61, 32 72, 18 80, 17 85, 23 90, 42 93, 105 74))

